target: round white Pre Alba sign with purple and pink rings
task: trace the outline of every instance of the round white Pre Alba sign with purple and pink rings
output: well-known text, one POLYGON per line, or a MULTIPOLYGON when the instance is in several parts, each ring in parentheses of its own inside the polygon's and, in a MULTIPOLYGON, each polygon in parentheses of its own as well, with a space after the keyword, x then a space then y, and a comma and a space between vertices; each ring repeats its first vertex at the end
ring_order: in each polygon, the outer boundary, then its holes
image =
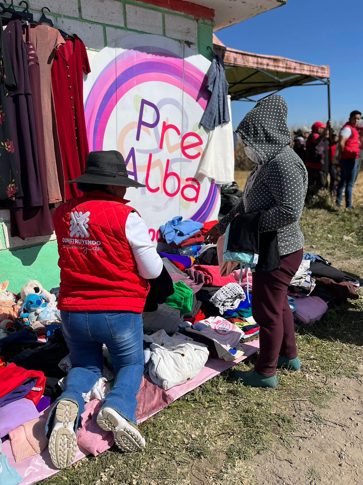
POLYGON ((129 177, 146 185, 127 197, 157 240, 176 215, 205 222, 219 210, 218 186, 198 174, 207 143, 199 120, 210 62, 158 35, 131 34, 91 60, 85 82, 90 150, 117 149, 129 177))

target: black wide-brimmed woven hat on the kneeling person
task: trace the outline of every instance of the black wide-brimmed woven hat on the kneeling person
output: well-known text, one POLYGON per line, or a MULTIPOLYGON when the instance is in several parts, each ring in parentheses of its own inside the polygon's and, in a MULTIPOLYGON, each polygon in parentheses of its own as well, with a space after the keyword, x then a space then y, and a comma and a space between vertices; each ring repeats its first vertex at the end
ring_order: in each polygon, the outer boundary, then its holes
POLYGON ((122 187, 146 187, 129 178, 126 163, 117 150, 90 152, 86 160, 84 175, 67 183, 95 183, 100 185, 120 185, 122 187))

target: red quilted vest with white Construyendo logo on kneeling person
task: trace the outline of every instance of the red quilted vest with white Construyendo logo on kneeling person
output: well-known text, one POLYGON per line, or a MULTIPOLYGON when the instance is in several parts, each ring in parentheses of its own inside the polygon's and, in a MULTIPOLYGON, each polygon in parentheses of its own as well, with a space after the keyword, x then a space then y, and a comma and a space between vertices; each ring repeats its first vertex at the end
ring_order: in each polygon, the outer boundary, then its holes
POLYGON ((58 308, 142 313, 149 285, 125 234, 133 210, 103 192, 84 194, 54 212, 61 268, 58 308))

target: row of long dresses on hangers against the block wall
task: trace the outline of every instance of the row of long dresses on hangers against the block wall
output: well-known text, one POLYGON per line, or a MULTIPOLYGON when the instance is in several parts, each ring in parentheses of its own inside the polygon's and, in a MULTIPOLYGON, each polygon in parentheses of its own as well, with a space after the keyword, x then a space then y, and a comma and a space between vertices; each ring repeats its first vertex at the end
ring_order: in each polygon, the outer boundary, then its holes
POLYGON ((83 42, 54 28, 47 6, 39 21, 27 1, 18 6, 0 2, 0 209, 10 210, 11 236, 26 239, 52 235, 54 204, 80 194, 65 181, 83 173, 89 152, 90 65, 83 42))

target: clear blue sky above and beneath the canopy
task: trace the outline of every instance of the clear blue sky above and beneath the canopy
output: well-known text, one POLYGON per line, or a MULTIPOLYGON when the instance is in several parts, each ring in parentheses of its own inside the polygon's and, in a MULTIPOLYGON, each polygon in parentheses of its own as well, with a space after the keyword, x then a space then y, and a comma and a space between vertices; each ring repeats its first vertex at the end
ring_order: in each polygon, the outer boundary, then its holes
MULTIPOLYGON (((215 33, 234 49, 329 65, 332 120, 339 122, 352 110, 363 112, 362 19, 362 0, 288 0, 282 7, 215 33)), ((326 86, 291 87, 279 94, 287 101, 290 128, 328 119, 326 86)), ((234 128, 253 106, 232 102, 234 128)))

